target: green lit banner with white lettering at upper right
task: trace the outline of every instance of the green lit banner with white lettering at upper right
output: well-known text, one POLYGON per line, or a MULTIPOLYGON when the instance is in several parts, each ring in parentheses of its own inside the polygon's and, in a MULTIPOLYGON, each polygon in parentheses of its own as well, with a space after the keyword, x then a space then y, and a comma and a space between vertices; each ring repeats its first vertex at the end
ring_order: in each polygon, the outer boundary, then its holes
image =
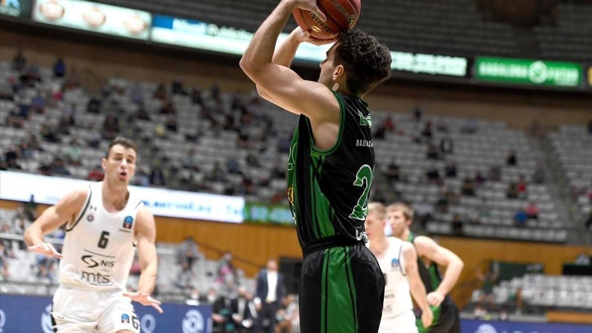
POLYGON ((477 57, 475 69, 478 80, 509 84, 577 87, 583 77, 580 64, 549 60, 477 57))

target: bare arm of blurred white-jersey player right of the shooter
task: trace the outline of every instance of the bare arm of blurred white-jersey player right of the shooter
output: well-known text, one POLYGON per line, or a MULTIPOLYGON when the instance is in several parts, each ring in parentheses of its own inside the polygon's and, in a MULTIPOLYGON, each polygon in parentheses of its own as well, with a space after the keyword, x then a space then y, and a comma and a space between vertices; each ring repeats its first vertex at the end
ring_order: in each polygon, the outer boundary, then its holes
POLYGON ((403 243, 402 255, 405 260, 405 267, 407 270, 407 281, 409 282, 409 290, 411 296, 422 309, 422 323, 424 327, 432 325, 433 313, 430 306, 427 304, 426 287, 423 285, 422 278, 419 276, 417 269, 417 252, 413 244, 409 242, 403 243))

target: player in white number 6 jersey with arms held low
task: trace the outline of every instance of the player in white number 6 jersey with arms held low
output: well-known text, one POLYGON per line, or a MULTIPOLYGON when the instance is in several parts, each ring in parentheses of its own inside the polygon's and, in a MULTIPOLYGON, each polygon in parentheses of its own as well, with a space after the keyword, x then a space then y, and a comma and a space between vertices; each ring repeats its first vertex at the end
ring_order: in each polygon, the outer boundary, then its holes
POLYGON ((60 259, 52 309, 56 332, 138 333, 131 300, 162 313, 160 302, 150 297, 157 270, 154 216, 128 190, 136 159, 136 144, 115 138, 101 161, 104 180, 66 194, 25 232, 30 251, 60 259), (60 254, 43 236, 64 223, 60 254), (136 246, 138 291, 127 293, 136 246))

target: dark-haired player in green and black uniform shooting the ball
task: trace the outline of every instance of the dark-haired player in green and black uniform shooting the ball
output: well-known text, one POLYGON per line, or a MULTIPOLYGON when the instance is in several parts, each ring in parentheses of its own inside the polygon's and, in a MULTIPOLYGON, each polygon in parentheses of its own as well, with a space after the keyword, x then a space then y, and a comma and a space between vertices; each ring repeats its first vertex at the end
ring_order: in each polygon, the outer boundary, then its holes
POLYGON ((284 0, 256 31, 240 60, 259 94, 300 115, 288 158, 288 199, 304 263, 303 333, 376 333, 384 277, 365 246, 364 220, 374 172, 372 119, 362 98, 390 77, 388 48, 361 30, 313 39, 296 28, 274 54, 289 15, 307 9, 326 20, 316 0, 284 0), (289 66, 300 43, 332 43, 318 82, 289 66))

